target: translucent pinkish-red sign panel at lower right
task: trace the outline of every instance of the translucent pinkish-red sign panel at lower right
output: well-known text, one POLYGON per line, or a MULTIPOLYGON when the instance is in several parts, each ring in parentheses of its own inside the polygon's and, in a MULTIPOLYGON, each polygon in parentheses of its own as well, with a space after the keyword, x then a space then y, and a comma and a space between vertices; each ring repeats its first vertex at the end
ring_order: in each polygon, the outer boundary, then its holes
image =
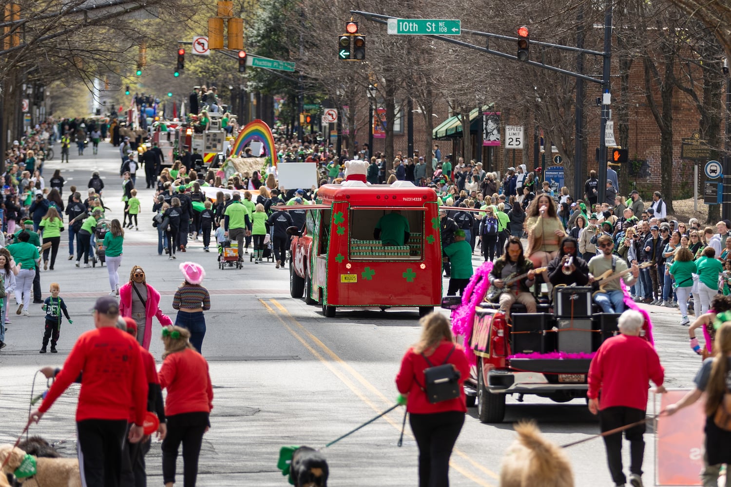
MULTIPOLYGON (((700 361, 698 362, 700 364, 700 361)), ((672 389, 662 394, 660 410, 681 400, 690 389, 672 389)), ((700 486, 703 467, 703 400, 672 416, 657 420, 655 464, 657 486, 700 486)))

